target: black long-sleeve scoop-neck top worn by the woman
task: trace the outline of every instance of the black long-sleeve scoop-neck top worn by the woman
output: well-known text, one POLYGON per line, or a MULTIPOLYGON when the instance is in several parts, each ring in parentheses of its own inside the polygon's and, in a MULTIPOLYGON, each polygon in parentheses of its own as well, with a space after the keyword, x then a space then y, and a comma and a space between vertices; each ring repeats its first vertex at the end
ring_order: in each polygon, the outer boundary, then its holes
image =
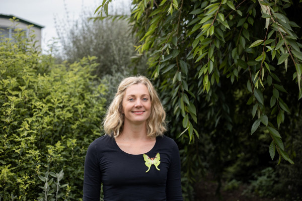
POLYGON ((167 136, 157 137, 150 158, 160 153, 160 164, 145 165, 143 154, 122 151, 114 138, 96 139, 87 150, 83 201, 100 200, 103 183, 105 201, 182 201, 180 157, 177 144, 167 136))

